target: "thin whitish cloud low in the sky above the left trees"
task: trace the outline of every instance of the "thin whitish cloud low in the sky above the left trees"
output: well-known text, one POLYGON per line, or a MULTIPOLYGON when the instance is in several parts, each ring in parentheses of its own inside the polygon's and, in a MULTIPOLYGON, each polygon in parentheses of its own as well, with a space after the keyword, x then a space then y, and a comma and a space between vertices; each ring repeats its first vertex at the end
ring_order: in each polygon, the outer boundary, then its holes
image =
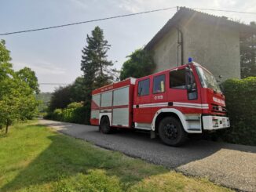
POLYGON ((66 71, 63 68, 56 67, 53 63, 46 61, 38 61, 33 64, 27 64, 19 61, 13 61, 12 63, 15 70, 20 70, 23 67, 30 67, 36 74, 66 74, 66 71))

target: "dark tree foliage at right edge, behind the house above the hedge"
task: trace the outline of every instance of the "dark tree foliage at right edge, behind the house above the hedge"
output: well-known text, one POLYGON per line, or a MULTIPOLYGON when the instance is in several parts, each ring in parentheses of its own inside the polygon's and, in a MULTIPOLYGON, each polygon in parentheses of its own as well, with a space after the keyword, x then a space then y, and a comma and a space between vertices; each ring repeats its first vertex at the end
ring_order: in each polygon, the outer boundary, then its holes
MULTIPOLYGON (((251 27, 256 29, 255 22, 251 27)), ((256 76, 256 34, 240 41, 241 77, 256 76)))

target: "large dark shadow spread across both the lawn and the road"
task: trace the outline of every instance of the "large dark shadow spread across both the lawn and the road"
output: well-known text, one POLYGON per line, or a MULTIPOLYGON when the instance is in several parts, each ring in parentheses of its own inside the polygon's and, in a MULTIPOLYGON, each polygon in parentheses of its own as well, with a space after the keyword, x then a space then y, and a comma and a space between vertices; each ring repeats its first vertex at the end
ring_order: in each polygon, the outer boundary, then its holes
MULTIPOLYGON (((95 143, 94 139, 97 138, 97 142, 104 141, 101 144, 96 143, 97 145, 107 146, 106 148, 110 149, 113 145, 118 144, 120 147, 115 150, 144 158, 147 161, 152 160, 156 164, 170 168, 177 168, 177 166, 191 161, 207 158, 222 148, 255 153, 255 147, 228 143, 191 140, 184 147, 168 147, 163 145, 159 139, 149 139, 147 134, 140 132, 122 131, 112 135, 103 135, 97 131, 97 127, 85 125, 74 127, 72 124, 61 122, 59 126, 61 126, 61 132, 65 134, 70 134, 76 129, 73 136, 77 138, 86 139, 92 143, 95 143), (127 148, 124 146, 127 145, 129 145, 129 149, 133 149, 132 153, 130 150, 125 150, 127 148), (134 151, 137 152, 136 155, 134 155, 134 151)), ((27 127, 35 129, 35 125, 27 125, 27 127)), ((46 128, 45 125, 36 127, 37 129, 46 128)), ((69 136, 53 132, 48 134, 47 139, 51 141, 49 147, 38 154, 38 157, 2 187, 1 191, 27 190, 30 187, 47 185, 47 183, 57 183, 57 188, 60 187, 59 191, 66 190, 70 187, 69 185, 75 184, 81 185, 79 189, 82 189, 82 187, 98 187, 99 185, 107 187, 111 183, 118 183, 115 187, 112 186, 112 190, 117 187, 127 190, 148 176, 168 172, 163 167, 148 165, 138 159, 126 158, 117 152, 98 150, 82 140, 69 136), (89 181, 90 183, 88 183, 89 181)), ((77 188, 75 189, 77 190, 77 188)), ((101 189, 96 188, 96 190, 101 189)))

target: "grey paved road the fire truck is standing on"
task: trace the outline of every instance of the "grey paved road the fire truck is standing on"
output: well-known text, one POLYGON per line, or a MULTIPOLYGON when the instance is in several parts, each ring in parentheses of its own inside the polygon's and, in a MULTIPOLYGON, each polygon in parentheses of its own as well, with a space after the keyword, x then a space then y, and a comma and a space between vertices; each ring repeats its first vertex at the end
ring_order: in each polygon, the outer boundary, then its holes
POLYGON ((190 176, 207 177, 237 190, 256 191, 256 147, 192 140, 184 147, 168 147, 141 132, 104 135, 96 126, 40 120, 59 132, 135 158, 174 168, 190 176))

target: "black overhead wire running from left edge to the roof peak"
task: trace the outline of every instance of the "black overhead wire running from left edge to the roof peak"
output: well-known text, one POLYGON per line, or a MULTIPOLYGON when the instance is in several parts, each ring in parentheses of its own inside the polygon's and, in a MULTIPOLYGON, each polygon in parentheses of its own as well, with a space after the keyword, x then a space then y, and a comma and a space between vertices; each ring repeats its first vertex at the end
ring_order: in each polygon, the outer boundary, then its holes
POLYGON ((42 27, 42 28, 29 29, 29 30, 24 30, 24 31, 15 31, 15 32, 0 34, 0 36, 7 35, 7 34, 27 33, 27 32, 32 32, 32 31, 42 31, 42 30, 47 30, 47 29, 59 28, 59 27, 68 27, 68 26, 77 25, 77 24, 87 24, 87 23, 92 23, 92 22, 96 22, 96 21, 100 21, 100 20, 112 20, 112 19, 116 19, 116 18, 120 18, 120 17, 135 16, 135 15, 141 15, 141 14, 145 14, 145 13, 153 13, 153 12, 159 12, 159 11, 176 9, 176 8, 177 7, 175 6, 175 7, 168 7, 168 8, 163 8, 163 9, 154 9, 154 10, 144 11, 144 12, 140 12, 140 13, 130 13, 130 14, 120 15, 120 16, 110 16, 110 17, 105 17, 105 18, 96 19, 96 20, 86 20, 86 21, 81 21, 81 22, 72 23, 72 24, 62 24, 62 25, 57 25, 57 26, 52 26, 52 27, 42 27))

